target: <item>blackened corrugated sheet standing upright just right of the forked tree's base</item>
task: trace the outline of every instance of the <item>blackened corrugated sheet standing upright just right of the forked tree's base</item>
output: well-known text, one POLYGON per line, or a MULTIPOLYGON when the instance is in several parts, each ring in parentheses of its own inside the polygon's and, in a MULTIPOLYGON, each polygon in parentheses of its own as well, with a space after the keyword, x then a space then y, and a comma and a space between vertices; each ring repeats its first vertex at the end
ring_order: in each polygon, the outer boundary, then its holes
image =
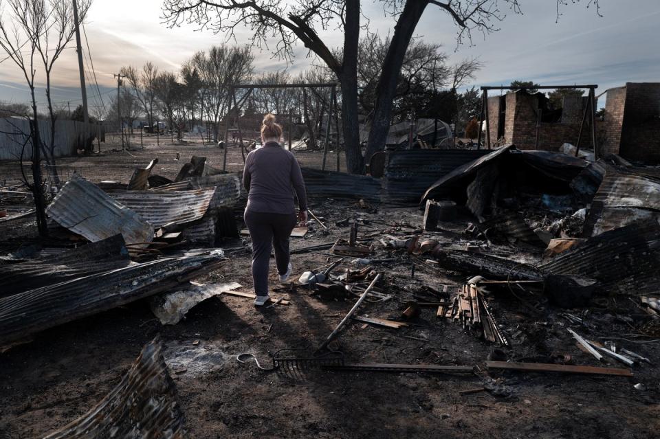
POLYGON ((389 202, 419 203, 428 187, 487 150, 418 149, 387 153, 384 186, 389 202))

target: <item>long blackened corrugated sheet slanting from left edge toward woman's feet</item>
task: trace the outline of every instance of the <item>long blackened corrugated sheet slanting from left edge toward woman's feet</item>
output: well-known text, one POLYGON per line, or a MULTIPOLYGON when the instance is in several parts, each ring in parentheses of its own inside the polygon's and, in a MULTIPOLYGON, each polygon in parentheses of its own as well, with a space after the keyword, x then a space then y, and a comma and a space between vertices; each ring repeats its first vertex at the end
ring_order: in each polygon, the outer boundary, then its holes
POLYGON ((0 298, 0 346, 153 294, 221 264, 211 254, 172 257, 0 298))

